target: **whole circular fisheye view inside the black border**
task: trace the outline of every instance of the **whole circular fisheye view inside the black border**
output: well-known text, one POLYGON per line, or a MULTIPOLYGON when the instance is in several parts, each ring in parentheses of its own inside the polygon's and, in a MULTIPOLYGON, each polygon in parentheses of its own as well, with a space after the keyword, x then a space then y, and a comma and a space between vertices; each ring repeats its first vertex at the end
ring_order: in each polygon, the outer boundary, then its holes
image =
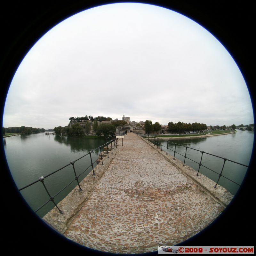
POLYGON ((240 69, 209 31, 170 9, 116 3, 33 45, 9 87, 3 137, 38 219, 86 248, 140 254, 225 213, 250 164, 254 117, 240 69))

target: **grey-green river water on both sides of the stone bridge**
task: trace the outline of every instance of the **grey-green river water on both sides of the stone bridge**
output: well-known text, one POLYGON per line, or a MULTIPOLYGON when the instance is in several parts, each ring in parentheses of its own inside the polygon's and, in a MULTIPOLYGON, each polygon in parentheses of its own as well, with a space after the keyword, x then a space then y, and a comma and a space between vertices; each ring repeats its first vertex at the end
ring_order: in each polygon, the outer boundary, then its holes
MULTIPOLYGON (((253 131, 238 130, 233 134, 170 141, 191 148, 196 148, 213 155, 226 157, 241 164, 249 165, 252 154, 253 137, 253 131)), ((45 177, 49 173, 60 169, 64 165, 69 164, 71 161, 78 159, 94 148, 98 148, 105 143, 106 140, 79 139, 38 133, 4 138, 4 150, 13 180, 19 189, 38 180, 40 176, 45 177)), ((168 143, 168 153, 173 155, 171 149, 174 150, 174 147, 170 144, 171 143, 168 143)), ((163 150, 166 150, 164 146, 167 146, 166 141, 163 141, 163 150)), ((181 146, 176 146, 176 151, 185 155, 185 149, 181 146)), ((175 157, 184 161, 184 157, 180 156, 178 153, 176 153, 175 157)), ((93 162, 98 158, 99 154, 100 150, 92 153, 93 162)), ((188 149, 187 156, 198 163, 200 162, 201 153, 198 151, 188 149)), ((90 166, 90 164, 91 160, 89 155, 77 161, 75 163, 77 175, 82 173, 88 166, 90 166)), ((188 158, 186 159, 185 164, 191 166, 196 171, 198 170, 199 165, 188 158)), ((202 164, 220 173, 223 165, 223 159, 206 156, 204 154, 202 164)), ((84 172, 84 174, 79 177, 79 180, 82 180, 91 170, 92 168, 89 168, 84 172)), ((246 167, 228 163, 227 161, 223 169, 223 175, 228 179, 241 184, 246 171, 246 167)), ((200 172, 214 181, 218 180, 218 174, 209 171, 202 166, 200 167, 200 172)), ((45 178, 44 183, 51 196, 53 196, 73 180, 74 176, 72 165, 69 165, 63 170, 45 178)), ((238 185, 223 177, 220 178, 218 184, 227 188, 232 194, 235 194, 239 188, 238 185)), ((77 183, 74 181, 58 196, 56 196, 54 201, 56 203, 60 202, 76 185, 77 183)), ((21 190, 20 193, 34 211, 49 199, 49 196, 41 182, 37 182, 29 188, 21 190)), ((42 217, 53 207, 53 203, 49 202, 42 207, 37 214, 42 217)))

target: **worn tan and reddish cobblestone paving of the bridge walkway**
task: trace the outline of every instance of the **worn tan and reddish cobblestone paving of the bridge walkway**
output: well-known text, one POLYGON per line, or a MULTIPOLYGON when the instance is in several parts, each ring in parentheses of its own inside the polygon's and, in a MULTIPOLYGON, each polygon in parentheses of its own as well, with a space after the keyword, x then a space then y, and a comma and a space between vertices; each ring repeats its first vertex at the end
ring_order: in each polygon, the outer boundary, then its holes
POLYGON ((143 253, 178 244, 223 208, 136 134, 127 133, 65 236, 103 252, 143 253))

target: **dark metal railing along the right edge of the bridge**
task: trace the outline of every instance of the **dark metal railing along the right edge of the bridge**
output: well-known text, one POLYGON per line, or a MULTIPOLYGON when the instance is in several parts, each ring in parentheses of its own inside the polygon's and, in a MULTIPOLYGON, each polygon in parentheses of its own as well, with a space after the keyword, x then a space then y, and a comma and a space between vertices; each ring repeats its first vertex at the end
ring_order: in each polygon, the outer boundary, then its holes
POLYGON ((213 154, 210 154, 210 153, 207 153, 207 152, 204 152, 204 151, 195 149, 195 148, 190 148, 190 147, 188 147, 188 146, 184 146, 184 145, 181 145, 181 144, 178 144, 178 143, 174 143, 174 142, 169 141, 169 140, 163 140, 163 139, 160 139, 159 137, 156 137, 156 136, 152 136, 152 135, 148 135, 148 134, 139 134, 139 135, 140 135, 142 138, 144 138, 145 140, 148 140, 149 143, 151 143, 151 144, 154 143, 154 144, 157 146, 157 148, 158 148, 158 147, 161 148, 161 151, 163 151, 163 147, 166 148, 166 155, 168 154, 168 149, 171 150, 172 152, 174 152, 174 154, 173 154, 173 159, 175 159, 175 154, 179 154, 180 156, 183 156, 183 157, 184 157, 183 166, 185 165, 186 159, 189 159, 189 160, 191 160, 192 162, 198 164, 198 170, 197 170, 196 176, 198 176, 201 166, 203 166, 203 167, 205 167, 206 169, 208 169, 208 170, 210 170, 210 171, 216 173, 217 175, 219 175, 218 180, 217 180, 217 182, 216 182, 214 188, 217 187, 217 185, 218 185, 218 183, 219 183, 219 181, 220 181, 220 177, 223 177, 223 178, 225 178, 225 179, 227 179, 227 180, 229 180, 229 181, 235 183, 236 185, 241 186, 240 184, 238 184, 238 183, 235 182, 234 180, 231 180, 231 179, 229 179, 228 177, 224 176, 224 175, 223 175, 223 169, 224 169, 225 163, 226 163, 227 161, 232 162, 232 163, 235 163, 235 164, 239 164, 239 165, 242 165, 242 166, 245 166, 245 167, 247 167, 247 168, 248 168, 248 165, 241 164, 241 163, 232 161, 232 160, 230 160, 230 159, 227 159, 227 158, 224 158, 224 157, 221 157, 221 156, 216 156, 216 155, 213 155, 213 154), (163 145, 163 141, 167 142, 167 146, 163 145), (168 146, 170 146, 170 147, 168 147, 168 146), (179 152, 177 152, 177 151, 176 151, 176 146, 184 147, 184 148, 186 149, 186 150, 185 150, 185 155, 182 155, 182 154, 180 154, 179 152), (174 150, 173 150, 171 147, 174 148, 174 150), (189 149, 192 149, 192 150, 195 150, 195 151, 198 151, 198 152, 201 153, 201 156, 200 156, 201 159, 200 159, 200 162, 199 162, 199 163, 198 163, 197 161, 195 161, 195 160, 193 160, 193 159, 191 159, 191 158, 189 158, 189 157, 187 156, 187 149, 188 149, 188 148, 189 148, 189 149), (214 171, 214 170, 212 170, 212 169, 210 169, 210 168, 208 168, 207 166, 205 166, 205 165, 202 164, 202 159, 203 159, 203 155, 204 155, 204 154, 205 154, 205 155, 209 155, 209 156, 218 157, 218 158, 220 158, 220 159, 223 159, 224 162, 223 162, 223 165, 222 165, 222 167, 221 167, 220 172, 216 172, 216 171, 214 171))

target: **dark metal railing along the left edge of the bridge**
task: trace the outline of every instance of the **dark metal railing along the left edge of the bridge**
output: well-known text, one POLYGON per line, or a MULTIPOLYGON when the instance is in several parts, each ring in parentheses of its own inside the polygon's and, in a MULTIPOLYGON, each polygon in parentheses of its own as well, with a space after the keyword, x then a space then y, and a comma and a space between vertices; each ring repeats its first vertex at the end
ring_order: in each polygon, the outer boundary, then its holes
MULTIPOLYGON (((93 165, 94 165, 99 159, 97 159, 96 161, 93 162, 93 161, 92 161, 92 152, 94 152, 94 151, 100 149, 100 162, 101 162, 101 164, 103 165, 103 158, 102 158, 102 151, 101 151, 101 149, 104 148, 104 147, 106 147, 106 148, 107 148, 107 155, 108 155, 109 152, 111 152, 111 153, 113 154, 113 148, 114 148, 114 150, 116 150, 117 146, 118 146, 118 139, 117 139, 117 138, 114 138, 114 139, 108 141, 107 143, 101 145, 100 147, 93 149, 92 151, 90 151, 89 153, 85 154, 84 156, 79 157, 79 158, 76 159, 75 161, 72 161, 72 162, 70 162, 69 164, 67 164, 67 165, 65 165, 65 166, 63 166, 63 167, 61 167, 60 169, 58 169, 58 170, 56 170, 56 171, 54 171, 54 172, 52 172, 52 173, 50 173, 50 174, 48 174, 48 175, 46 175, 46 176, 41 176, 41 177, 39 177, 38 180, 35 180, 34 182, 28 184, 27 186, 24 186, 24 187, 20 188, 19 191, 21 191, 21 190, 23 190, 23 189, 25 189, 25 188, 28 188, 28 187, 34 185, 34 184, 37 183, 37 182, 42 182, 42 184, 43 184, 43 186, 44 186, 44 189, 45 189, 46 193, 47 193, 48 196, 49 196, 49 200, 48 200, 47 202, 45 202, 44 204, 42 204, 35 212, 39 211, 39 210, 40 210, 42 207, 44 207, 44 205, 46 205, 47 203, 52 202, 52 203, 57 207, 57 209, 59 210, 59 212, 60 212, 60 213, 63 213, 63 212, 60 210, 60 208, 58 207, 58 205, 54 202, 54 198, 55 198, 57 195, 59 195, 65 188, 67 188, 71 183, 73 183, 75 180, 76 180, 76 182, 77 182, 77 184, 78 184, 79 190, 80 190, 80 191, 83 191, 82 188, 81 188, 81 186, 80 186, 80 184, 79 184, 78 178, 79 178, 85 171, 87 171, 90 167, 92 167, 92 170, 91 170, 91 171, 93 172, 93 175, 96 175, 96 173, 95 173, 95 171, 94 171, 94 168, 93 168, 93 165), (90 162, 91 162, 91 164, 90 164, 82 173, 80 173, 79 175, 77 175, 77 174, 76 174, 76 169, 75 169, 75 163, 76 163, 78 160, 84 158, 85 156, 90 156, 90 162), (49 190, 46 188, 46 185, 44 184, 44 179, 46 179, 47 177, 51 176, 52 174, 54 174, 54 173, 56 173, 56 172, 59 172, 59 171, 63 170, 65 167, 67 167, 67 166, 69 166, 69 165, 72 165, 72 167, 73 167, 73 171, 74 171, 74 174, 75 174, 75 178, 74 178, 72 181, 70 181, 64 188, 61 188, 61 190, 60 190, 59 192, 57 192, 54 196, 52 196, 52 195, 49 193, 49 190)), ((109 156, 108 156, 108 158, 109 158, 109 156)), ((91 171, 90 171, 90 172, 91 172, 91 171)))

